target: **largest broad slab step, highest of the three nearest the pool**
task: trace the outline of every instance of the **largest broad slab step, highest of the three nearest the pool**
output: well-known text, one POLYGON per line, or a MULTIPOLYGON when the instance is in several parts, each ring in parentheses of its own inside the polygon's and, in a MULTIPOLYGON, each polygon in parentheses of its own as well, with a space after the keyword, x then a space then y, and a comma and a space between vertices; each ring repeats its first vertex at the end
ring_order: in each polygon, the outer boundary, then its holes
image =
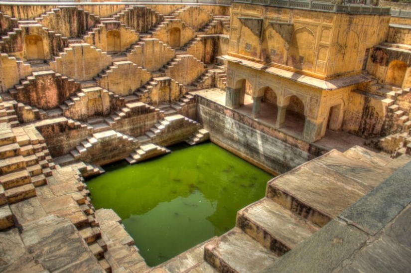
POLYGON ((391 173, 332 150, 274 178, 267 197, 322 227, 391 173))

